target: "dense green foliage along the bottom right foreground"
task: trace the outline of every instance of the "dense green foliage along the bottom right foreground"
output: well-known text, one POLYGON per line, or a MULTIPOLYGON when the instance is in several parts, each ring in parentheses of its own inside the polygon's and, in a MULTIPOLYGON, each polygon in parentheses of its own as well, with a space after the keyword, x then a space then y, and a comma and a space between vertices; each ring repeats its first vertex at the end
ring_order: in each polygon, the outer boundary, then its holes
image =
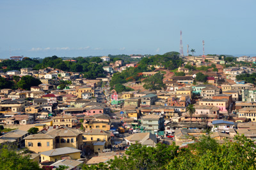
POLYGON ((158 143, 156 147, 131 145, 123 157, 83 169, 255 169, 256 145, 244 136, 223 145, 209 136, 181 148, 158 143))

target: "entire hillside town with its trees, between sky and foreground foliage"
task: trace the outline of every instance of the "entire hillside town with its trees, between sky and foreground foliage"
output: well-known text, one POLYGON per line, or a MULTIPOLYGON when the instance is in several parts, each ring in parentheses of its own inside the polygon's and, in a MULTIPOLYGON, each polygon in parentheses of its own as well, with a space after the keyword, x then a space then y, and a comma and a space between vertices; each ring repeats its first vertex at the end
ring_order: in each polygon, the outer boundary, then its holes
POLYGON ((256 57, 118 57, 1 59, 1 146, 26 148, 40 167, 81 169, 136 143, 255 141, 256 57))

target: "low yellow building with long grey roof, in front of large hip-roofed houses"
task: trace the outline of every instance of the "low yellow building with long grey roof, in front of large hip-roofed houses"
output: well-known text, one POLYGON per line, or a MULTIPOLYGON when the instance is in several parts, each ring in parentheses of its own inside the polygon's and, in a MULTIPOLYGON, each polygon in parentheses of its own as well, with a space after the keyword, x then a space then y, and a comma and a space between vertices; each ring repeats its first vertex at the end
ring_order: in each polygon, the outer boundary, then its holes
POLYGON ((63 157, 70 157, 70 159, 81 159, 80 157, 81 150, 77 150, 75 148, 57 148, 53 150, 48 150, 41 153, 41 161, 52 161, 56 162, 57 160, 61 160, 63 157))

